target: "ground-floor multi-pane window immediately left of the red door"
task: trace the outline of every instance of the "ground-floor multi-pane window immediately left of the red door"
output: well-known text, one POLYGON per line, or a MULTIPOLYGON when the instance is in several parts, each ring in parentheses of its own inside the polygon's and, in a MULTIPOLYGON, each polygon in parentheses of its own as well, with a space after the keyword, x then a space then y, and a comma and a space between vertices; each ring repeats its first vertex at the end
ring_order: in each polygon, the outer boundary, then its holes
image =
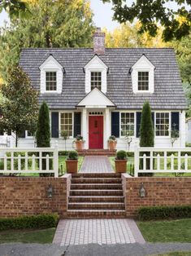
POLYGON ((60 113, 60 130, 66 131, 69 137, 73 135, 73 115, 72 113, 60 113))

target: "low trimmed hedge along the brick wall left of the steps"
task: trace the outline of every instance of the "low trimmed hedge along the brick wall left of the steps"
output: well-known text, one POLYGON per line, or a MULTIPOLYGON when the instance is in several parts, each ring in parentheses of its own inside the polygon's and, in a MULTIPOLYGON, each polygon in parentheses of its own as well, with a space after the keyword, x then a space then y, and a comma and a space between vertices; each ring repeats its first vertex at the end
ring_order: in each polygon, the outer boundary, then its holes
POLYGON ((16 218, 0 218, 0 231, 7 229, 56 227, 58 214, 38 214, 16 218))

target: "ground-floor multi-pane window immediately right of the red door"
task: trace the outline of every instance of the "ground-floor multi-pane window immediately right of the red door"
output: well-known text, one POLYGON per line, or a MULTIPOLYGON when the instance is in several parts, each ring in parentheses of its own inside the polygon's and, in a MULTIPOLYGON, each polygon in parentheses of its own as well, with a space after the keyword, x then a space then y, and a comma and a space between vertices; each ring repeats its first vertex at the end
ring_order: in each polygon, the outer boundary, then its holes
POLYGON ((120 113, 120 135, 135 135, 135 113, 120 113))

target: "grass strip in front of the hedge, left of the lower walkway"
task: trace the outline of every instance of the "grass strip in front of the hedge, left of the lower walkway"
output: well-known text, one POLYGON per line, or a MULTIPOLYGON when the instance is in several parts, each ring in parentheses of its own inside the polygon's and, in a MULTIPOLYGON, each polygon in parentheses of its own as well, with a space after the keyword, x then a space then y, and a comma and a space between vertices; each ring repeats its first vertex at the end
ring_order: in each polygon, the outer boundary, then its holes
POLYGON ((0 244, 11 242, 50 244, 53 241, 55 230, 55 227, 43 230, 7 230, 0 232, 0 244))

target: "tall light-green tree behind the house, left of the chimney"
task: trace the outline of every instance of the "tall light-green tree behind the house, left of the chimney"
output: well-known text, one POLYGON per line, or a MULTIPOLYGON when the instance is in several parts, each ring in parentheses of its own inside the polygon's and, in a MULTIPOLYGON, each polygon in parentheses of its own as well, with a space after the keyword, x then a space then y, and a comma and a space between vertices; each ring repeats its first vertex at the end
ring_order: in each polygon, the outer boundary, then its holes
POLYGON ((17 64, 22 47, 90 46, 93 20, 87 0, 37 0, 29 2, 28 20, 11 20, 0 30, 0 73, 17 64))

